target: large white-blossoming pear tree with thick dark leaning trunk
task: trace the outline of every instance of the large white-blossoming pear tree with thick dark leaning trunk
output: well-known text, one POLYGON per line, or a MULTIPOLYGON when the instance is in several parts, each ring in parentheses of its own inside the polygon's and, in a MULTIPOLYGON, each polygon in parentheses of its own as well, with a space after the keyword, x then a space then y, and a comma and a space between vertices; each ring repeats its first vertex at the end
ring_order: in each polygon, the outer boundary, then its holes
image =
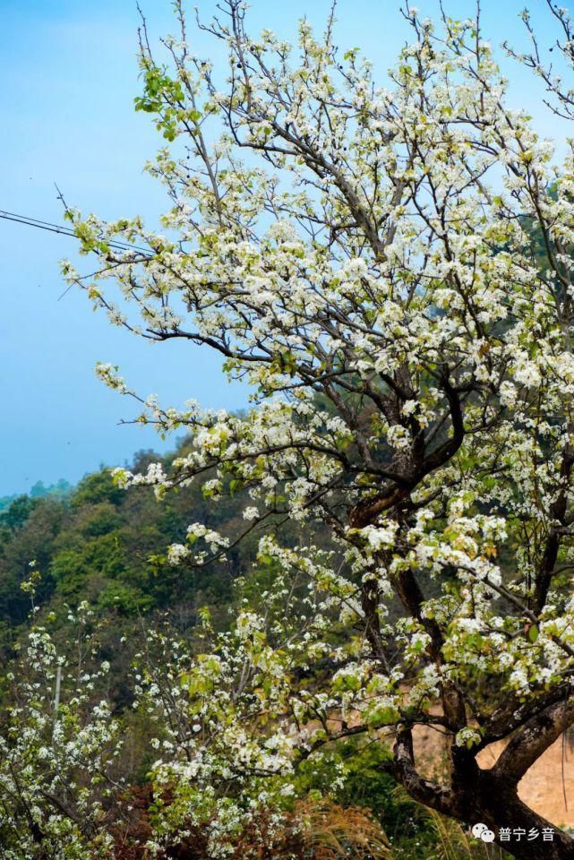
MULTIPOLYGON (((222 0, 198 22, 227 49, 222 72, 176 7, 166 64, 142 28, 136 102, 166 139, 149 166, 165 230, 70 211, 99 263, 65 271, 113 323, 215 350, 250 384, 244 416, 145 401, 141 421, 193 445, 168 473, 117 479, 242 492, 236 538, 194 523, 170 561, 212 563, 255 532, 275 582, 237 618, 240 646, 182 675, 192 727, 156 777, 176 781, 184 818, 208 802, 193 786, 211 754, 226 785, 240 770, 265 798, 266 778, 365 736, 417 801, 497 839, 542 833, 557 822, 518 784, 574 723, 572 143, 558 162, 510 107, 478 17, 435 26, 407 6, 412 41, 381 85, 338 51, 333 15, 291 47, 222 0), (285 519, 317 537, 282 545, 285 519), (440 777, 417 758, 420 726, 444 735, 440 777)), ((523 58, 570 113, 536 50, 523 58)), ((565 860, 574 840, 503 847, 565 860)))

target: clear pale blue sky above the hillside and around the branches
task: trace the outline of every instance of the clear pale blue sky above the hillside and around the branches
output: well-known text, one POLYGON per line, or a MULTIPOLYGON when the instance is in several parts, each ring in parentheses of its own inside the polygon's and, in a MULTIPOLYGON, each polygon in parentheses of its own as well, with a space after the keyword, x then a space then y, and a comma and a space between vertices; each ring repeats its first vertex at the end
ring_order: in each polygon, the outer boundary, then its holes
MULTIPOLYGON (((289 37, 304 14, 324 22, 329 5, 253 0, 250 26, 289 37)), ((417 5, 436 9, 430 0, 417 5)), ((465 0, 446 5, 457 16, 474 8, 465 0)), ((523 5, 483 0, 484 31, 493 44, 521 39, 523 5)), ((533 0, 531 7, 544 40, 543 5, 533 0)), ((175 30, 168 0, 141 6, 152 38, 175 30)), ((199 6, 207 16, 216 3, 199 6)), ((158 135, 149 117, 133 111, 137 26, 133 0, 0 0, 1 210, 61 220, 56 182, 82 211, 157 219, 165 201, 141 168, 158 148, 158 135)), ((398 0, 339 0, 338 44, 362 47, 381 75, 404 39, 398 0)), ((203 39, 200 47, 210 55, 203 39)), ((532 80, 514 66, 506 71, 512 99, 528 106, 532 80)), ((535 120, 545 133, 560 133, 544 113, 535 120)), ((37 480, 74 482, 100 463, 123 463, 140 448, 159 447, 150 429, 119 426, 133 409, 98 382, 98 360, 118 364, 134 388, 166 404, 193 397, 236 409, 246 401, 246 392, 224 379, 218 357, 187 344, 153 346, 112 329, 74 290, 58 300, 64 291, 58 261, 73 250, 71 239, 0 220, 0 495, 25 492, 37 480)))

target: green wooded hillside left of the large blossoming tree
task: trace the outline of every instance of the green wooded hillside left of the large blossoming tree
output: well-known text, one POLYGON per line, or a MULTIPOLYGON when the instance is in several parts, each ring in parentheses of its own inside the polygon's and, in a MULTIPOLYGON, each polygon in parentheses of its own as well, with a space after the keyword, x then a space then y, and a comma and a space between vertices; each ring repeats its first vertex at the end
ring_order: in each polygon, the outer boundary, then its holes
MULTIPOLYGON (((131 468, 145 471, 159 460, 168 468, 189 444, 183 440, 165 457, 139 452, 131 468)), ((13 656, 28 624, 30 596, 21 584, 30 578, 33 563, 39 572, 35 603, 62 641, 70 608, 83 600, 105 621, 102 656, 113 666, 121 705, 134 623, 141 628, 146 616, 167 613, 172 624, 190 631, 207 606, 214 624, 227 624, 234 583, 253 576, 259 535, 253 533, 220 563, 201 570, 171 566, 167 546, 185 542, 187 527, 195 521, 236 538, 245 528, 244 502, 237 492, 214 504, 201 486, 191 486, 159 503, 150 487, 115 486, 109 469, 84 477, 75 487, 64 481, 50 487, 39 483, 30 495, 12 497, 0 511, 0 663, 13 656), (124 636, 128 643, 120 647, 124 636)), ((288 528, 282 529, 287 540, 288 528)))

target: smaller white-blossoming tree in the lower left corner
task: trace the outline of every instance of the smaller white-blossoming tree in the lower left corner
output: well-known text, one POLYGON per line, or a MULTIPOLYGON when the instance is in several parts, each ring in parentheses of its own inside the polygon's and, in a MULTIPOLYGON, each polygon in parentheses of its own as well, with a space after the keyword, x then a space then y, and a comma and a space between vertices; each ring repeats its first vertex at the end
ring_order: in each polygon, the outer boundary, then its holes
MULTIPOLYGON (((31 592, 32 581, 25 586, 31 592)), ((120 726, 107 699, 94 701, 109 664, 93 668, 91 615, 85 602, 69 615, 72 655, 49 632, 54 619, 32 624, 3 677, 2 860, 107 860, 116 831, 126 829, 116 803, 124 792, 120 726)))

